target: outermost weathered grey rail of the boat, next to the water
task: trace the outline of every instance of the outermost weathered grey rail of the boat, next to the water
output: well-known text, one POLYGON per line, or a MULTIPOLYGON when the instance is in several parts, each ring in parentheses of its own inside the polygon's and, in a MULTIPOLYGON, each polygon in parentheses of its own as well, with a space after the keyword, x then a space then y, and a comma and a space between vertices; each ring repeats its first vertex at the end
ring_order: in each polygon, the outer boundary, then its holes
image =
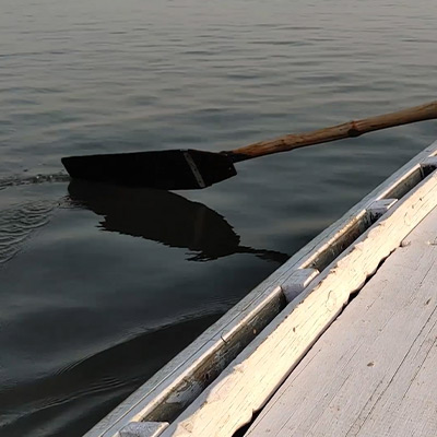
MULTIPOLYGON (((362 232, 376 200, 400 198, 423 177, 421 163, 437 154, 437 141, 377 187, 285 264, 259 284, 168 365, 95 425, 86 437, 113 437, 135 421, 172 422, 285 306, 281 286, 300 269, 324 269, 362 232), (209 380, 206 381, 206 374, 209 380), (168 403, 177 394, 182 400, 168 403)), ((432 165, 433 167, 433 165, 432 165)), ((435 167, 435 166, 434 166, 435 167)), ((433 168, 434 168, 433 167, 433 168)))

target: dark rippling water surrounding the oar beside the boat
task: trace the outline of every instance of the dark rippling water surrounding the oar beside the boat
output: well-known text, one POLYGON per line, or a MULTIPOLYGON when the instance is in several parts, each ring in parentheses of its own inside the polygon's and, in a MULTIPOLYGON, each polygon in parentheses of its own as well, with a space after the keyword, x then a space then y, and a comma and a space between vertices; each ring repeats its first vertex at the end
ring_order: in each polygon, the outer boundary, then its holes
POLYGON ((2 0, 0 435, 80 436, 437 128, 177 193, 69 184, 61 156, 220 151, 427 102, 436 20, 435 0, 2 0))

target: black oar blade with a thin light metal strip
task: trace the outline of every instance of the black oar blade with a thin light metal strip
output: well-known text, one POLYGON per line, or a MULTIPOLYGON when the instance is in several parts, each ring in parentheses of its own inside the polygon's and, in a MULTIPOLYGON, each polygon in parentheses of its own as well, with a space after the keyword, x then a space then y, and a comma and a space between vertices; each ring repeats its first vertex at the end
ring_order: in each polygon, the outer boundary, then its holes
POLYGON ((237 174, 229 157, 196 150, 170 150, 63 157, 72 178, 164 190, 209 187, 237 174))

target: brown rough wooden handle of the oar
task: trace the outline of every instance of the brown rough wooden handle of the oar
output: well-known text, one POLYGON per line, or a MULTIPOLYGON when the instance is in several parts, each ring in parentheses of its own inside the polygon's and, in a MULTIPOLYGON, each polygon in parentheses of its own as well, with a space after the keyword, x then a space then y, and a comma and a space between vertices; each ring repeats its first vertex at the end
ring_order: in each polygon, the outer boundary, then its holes
POLYGON ((260 141, 244 147, 225 152, 234 162, 250 160, 272 153, 287 152, 307 145, 327 143, 344 138, 359 137, 366 132, 387 129, 393 126, 409 125, 416 121, 437 118, 437 101, 421 106, 385 114, 376 117, 349 121, 330 128, 306 133, 292 133, 270 141, 260 141))

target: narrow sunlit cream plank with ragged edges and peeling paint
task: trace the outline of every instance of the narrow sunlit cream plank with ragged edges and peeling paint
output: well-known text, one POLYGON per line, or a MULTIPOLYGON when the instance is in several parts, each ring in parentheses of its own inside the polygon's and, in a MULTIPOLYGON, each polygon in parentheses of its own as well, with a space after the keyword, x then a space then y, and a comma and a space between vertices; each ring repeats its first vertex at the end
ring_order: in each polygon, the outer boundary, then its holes
POLYGON ((341 312, 351 293, 436 204, 433 173, 312 281, 163 436, 228 437, 248 423, 341 312))

